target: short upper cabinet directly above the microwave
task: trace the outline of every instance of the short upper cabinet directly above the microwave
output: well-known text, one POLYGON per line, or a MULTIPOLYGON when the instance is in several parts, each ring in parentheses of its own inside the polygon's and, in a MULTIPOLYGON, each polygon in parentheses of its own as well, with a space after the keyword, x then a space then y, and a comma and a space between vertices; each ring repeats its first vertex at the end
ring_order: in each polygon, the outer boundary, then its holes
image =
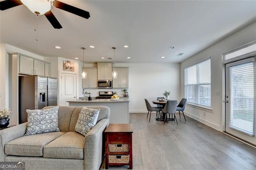
POLYGON ((98 62, 98 80, 112 80, 112 62, 98 62))

